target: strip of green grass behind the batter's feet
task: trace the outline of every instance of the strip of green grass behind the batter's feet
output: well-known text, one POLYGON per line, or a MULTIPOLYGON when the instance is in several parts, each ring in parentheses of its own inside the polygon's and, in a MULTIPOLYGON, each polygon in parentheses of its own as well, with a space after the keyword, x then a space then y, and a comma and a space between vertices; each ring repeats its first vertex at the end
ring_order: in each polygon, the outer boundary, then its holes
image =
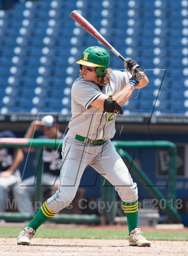
MULTIPOLYGON (((20 227, 0 227, 1 238, 16 238, 20 227)), ((149 240, 188 241, 186 232, 145 231, 145 238, 149 240)), ((65 229, 43 228, 38 229, 35 238, 86 238, 86 239, 128 239, 126 230, 105 229, 65 229)))

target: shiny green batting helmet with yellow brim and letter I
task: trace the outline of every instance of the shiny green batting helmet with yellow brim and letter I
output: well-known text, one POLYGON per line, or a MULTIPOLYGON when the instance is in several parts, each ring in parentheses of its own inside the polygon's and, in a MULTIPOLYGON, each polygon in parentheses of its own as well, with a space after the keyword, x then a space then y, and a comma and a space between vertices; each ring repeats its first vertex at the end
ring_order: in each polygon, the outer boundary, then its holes
POLYGON ((107 68, 109 67, 110 57, 107 50, 104 48, 90 46, 83 51, 81 59, 76 63, 88 67, 97 67, 95 69, 95 73, 98 76, 104 76, 107 73, 107 68))

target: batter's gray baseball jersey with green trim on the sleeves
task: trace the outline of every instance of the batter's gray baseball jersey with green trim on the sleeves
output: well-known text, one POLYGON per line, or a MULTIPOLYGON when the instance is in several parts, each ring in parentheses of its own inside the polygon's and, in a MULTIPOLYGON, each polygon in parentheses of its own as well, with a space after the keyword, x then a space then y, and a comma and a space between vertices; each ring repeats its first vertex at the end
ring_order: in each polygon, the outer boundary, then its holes
POLYGON ((103 86, 101 91, 98 85, 85 81, 80 76, 72 87, 72 119, 69 129, 75 134, 89 139, 111 139, 115 135, 114 113, 104 112, 102 108, 90 105, 100 94, 111 96, 124 88, 131 74, 128 72, 112 71, 111 82, 103 86))

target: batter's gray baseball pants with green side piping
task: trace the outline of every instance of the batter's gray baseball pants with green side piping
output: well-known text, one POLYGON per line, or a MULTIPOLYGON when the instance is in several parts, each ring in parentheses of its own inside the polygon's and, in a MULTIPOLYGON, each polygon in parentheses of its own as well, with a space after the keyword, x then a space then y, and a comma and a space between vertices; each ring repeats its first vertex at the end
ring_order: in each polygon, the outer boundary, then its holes
POLYGON ((137 184, 133 183, 127 166, 111 140, 94 146, 75 139, 75 136, 76 134, 69 130, 64 137, 60 186, 56 193, 47 199, 49 209, 57 213, 73 201, 81 176, 88 165, 115 186, 122 201, 135 202, 138 199, 137 184))

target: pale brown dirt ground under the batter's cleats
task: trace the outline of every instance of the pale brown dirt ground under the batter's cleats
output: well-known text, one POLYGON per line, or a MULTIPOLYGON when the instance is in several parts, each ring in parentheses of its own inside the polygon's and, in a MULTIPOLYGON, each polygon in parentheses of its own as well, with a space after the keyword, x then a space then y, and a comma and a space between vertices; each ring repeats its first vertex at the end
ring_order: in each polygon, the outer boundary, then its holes
POLYGON ((130 247, 127 240, 33 238, 17 245, 16 238, 0 238, 0 256, 187 256, 188 242, 152 241, 151 247, 130 247))

